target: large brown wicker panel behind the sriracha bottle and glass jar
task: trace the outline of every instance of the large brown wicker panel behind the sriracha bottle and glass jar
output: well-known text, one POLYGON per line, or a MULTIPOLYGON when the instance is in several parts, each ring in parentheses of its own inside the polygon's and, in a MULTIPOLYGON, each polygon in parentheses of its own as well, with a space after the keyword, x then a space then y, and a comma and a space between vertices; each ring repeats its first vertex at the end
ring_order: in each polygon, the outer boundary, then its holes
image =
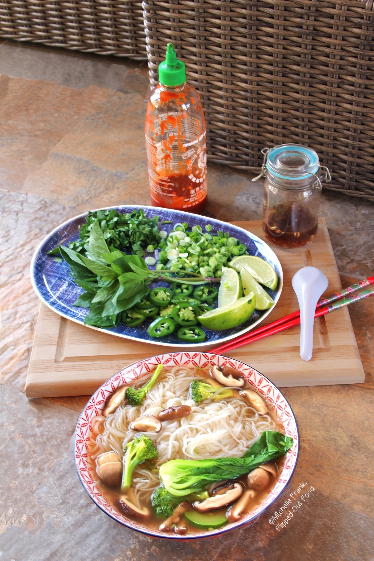
POLYGON ((329 188, 374 200, 373 0, 145 0, 153 84, 174 43, 204 105, 209 159, 314 148, 329 188))

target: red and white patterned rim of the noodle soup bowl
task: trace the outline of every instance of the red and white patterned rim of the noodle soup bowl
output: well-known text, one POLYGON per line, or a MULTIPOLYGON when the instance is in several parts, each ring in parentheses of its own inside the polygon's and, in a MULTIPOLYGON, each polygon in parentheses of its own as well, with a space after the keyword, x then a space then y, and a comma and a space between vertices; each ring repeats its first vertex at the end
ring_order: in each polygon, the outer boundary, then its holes
POLYGON ((199 537, 214 537, 233 530, 234 528, 246 526, 259 514, 264 512, 265 509, 272 503, 274 503, 278 496, 283 492, 295 470, 298 454, 299 434, 297 422, 289 403, 286 401, 279 389, 276 388, 269 379, 265 378, 265 376, 250 366, 242 364, 237 360, 233 360, 233 358, 213 355, 208 352, 165 353, 164 355, 146 358, 145 360, 126 366, 118 374, 109 378, 109 380, 107 380, 90 398, 81 413, 74 437, 74 459, 77 472, 82 485, 94 503, 96 503, 102 511, 114 518, 114 520, 117 520, 117 522, 127 526, 128 528, 132 528, 133 530, 137 530, 138 532, 142 532, 142 534, 147 534, 151 537, 163 537, 172 540, 191 540, 199 537), (158 364, 164 364, 165 366, 193 365, 207 369, 213 365, 224 366, 228 364, 229 366, 240 370, 248 383, 256 388, 258 393, 266 397, 268 402, 271 404, 273 411, 276 411, 276 416, 280 421, 281 430, 284 430, 286 436, 292 436, 294 440, 293 447, 288 450, 287 454, 280 462, 280 475, 274 488, 269 491, 269 494, 267 494, 265 499, 258 502, 256 508, 253 509, 250 514, 247 514, 247 516, 243 517, 239 522, 234 522, 224 526, 223 528, 209 532, 201 531, 196 528, 193 531, 190 531, 186 536, 164 534, 163 532, 152 530, 139 522, 128 519, 126 516, 123 516, 123 514, 117 512, 116 509, 114 509, 105 499, 105 496, 101 493, 96 481, 93 479, 92 468, 90 463, 87 461, 91 419, 94 416, 101 414, 107 397, 109 394, 113 393, 119 385, 131 384, 133 380, 136 380, 147 372, 154 370, 155 366, 158 364))

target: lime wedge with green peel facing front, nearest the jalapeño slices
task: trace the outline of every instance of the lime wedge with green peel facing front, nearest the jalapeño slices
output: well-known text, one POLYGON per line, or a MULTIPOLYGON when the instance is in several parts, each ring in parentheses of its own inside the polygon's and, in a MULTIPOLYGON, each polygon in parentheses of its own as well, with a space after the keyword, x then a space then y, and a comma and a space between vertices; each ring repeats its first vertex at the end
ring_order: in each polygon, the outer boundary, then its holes
POLYGON ((207 329, 223 331, 246 321, 255 311, 256 298, 253 292, 221 308, 215 308, 198 316, 198 321, 207 329))

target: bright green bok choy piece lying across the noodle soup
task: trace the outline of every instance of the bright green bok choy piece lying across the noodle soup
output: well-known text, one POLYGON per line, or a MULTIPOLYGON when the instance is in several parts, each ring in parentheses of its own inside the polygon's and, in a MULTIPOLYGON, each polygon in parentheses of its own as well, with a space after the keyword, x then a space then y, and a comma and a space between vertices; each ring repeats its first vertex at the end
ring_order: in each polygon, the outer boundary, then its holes
POLYGON ((290 436, 267 430, 242 458, 172 459, 160 467, 160 479, 168 493, 180 499, 214 481, 236 479, 262 463, 283 456, 292 445, 290 436))

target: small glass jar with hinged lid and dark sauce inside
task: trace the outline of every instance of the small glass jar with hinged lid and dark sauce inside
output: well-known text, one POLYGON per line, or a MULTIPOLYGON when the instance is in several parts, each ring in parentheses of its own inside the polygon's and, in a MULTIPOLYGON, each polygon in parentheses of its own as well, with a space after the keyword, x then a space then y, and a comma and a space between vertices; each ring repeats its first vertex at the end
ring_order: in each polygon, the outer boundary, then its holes
POLYGON ((265 177, 262 227, 267 240, 279 247, 302 247, 317 234, 322 181, 329 169, 320 165, 312 148, 281 144, 264 148, 265 177))

